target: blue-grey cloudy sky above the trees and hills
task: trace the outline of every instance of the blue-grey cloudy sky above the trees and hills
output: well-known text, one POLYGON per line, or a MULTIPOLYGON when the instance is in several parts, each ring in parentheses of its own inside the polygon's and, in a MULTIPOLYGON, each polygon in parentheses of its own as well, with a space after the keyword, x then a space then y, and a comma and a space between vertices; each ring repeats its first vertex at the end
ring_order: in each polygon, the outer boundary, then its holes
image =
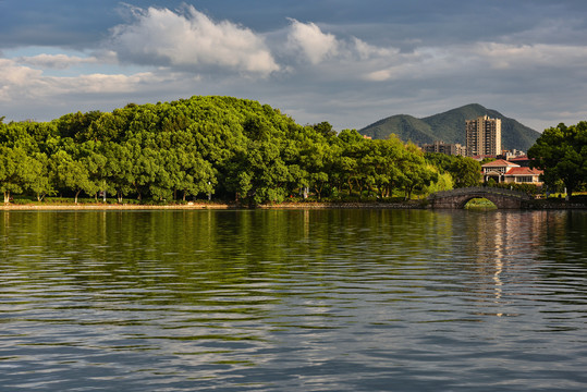
POLYGON ((480 103, 587 120, 584 0, 0 0, 0 117, 225 95, 360 128, 480 103))

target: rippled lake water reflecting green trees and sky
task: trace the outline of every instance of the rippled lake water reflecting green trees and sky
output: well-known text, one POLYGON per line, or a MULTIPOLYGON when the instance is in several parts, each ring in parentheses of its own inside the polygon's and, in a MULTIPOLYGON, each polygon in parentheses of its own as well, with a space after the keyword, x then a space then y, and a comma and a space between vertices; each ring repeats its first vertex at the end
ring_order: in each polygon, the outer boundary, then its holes
POLYGON ((1 391, 586 391, 587 212, 0 211, 1 391))

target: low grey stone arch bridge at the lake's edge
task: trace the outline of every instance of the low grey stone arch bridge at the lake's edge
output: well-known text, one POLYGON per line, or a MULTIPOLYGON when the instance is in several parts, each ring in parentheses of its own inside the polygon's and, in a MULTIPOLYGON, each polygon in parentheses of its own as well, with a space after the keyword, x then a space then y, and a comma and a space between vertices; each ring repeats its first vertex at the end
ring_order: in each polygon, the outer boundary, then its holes
POLYGON ((474 198, 486 198, 498 208, 530 208, 533 205, 533 198, 523 192, 490 186, 443 191, 428 196, 432 208, 452 209, 464 208, 474 198))

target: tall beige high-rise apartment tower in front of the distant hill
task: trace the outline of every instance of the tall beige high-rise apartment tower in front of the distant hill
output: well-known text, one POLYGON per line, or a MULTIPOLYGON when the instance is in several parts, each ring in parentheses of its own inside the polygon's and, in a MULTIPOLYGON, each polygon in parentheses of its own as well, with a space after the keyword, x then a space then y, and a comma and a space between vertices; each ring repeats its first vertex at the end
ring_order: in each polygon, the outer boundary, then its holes
POLYGON ((465 124, 467 156, 501 155, 501 119, 481 115, 465 124))

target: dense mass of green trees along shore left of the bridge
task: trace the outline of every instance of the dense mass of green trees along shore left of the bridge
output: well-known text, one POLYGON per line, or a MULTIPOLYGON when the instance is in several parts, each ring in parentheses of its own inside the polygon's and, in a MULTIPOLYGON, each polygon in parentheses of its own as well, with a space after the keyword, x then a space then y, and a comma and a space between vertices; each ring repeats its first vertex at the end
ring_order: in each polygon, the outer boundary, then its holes
POLYGON ((469 158, 425 156, 393 135, 367 139, 327 122, 299 125, 279 109, 232 97, 130 103, 49 122, 0 118, 5 204, 97 203, 102 195, 126 205, 380 203, 479 177, 469 158))

